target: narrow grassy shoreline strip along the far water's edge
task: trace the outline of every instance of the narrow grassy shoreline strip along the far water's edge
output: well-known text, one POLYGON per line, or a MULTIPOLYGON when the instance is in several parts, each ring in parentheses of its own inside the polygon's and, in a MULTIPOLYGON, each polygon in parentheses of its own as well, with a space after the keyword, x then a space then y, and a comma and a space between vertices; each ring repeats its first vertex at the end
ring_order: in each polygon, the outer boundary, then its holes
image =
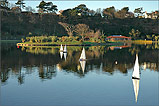
POLYGON ((1 43, 16 43, 17 46, 60 46, 67 45, 67 46, 104 46, 104 45, 123 45, 123 44, 153 44, 158 43, 159 41, 151 41, 151 40, 132 40, 132 41, 118 41, 118 42, 103 42, 103 43, 96 43, 96 42, 44 42, 44 43, 18 43, 21 40, 0 40, 1 43))

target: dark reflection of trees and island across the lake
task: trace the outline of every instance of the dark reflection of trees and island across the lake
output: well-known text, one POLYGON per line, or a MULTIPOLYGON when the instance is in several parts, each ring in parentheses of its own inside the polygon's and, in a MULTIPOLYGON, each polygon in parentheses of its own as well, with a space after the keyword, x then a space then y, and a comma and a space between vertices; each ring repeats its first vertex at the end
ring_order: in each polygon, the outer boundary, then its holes
POLYGON ((133 68, 135 55, 140 56, 141 67, 159 71, 158 49, 147 48, 147 45, 131 45, 131 47, 109 50, 110 46, 85 47, 85 53, 89 61, 79 62, 83 47, 67 47, 67 53, 60 52, 60 47, 22 47, 15 45, 2 46, 1 82, 5 84, 9 74, 15 74, 19 83, 24 83, 27 73, 36 70, 39 78, 51 79, 56 76, 57 69, 75 76, 83 77, 88 71, 101 68, 102 73, 113 75, 115 71, 127 74, 133 68), (142 55, 141 55, 142 54, 142 55), (64 56, 63 56, 64 55, 64 56), (64 57, 64 60, 62 59, 64 57), (80 67, 79 67, 80 66, 80 67), (25 73, 23 69, 26 69, 25 73), (79 71, 82 70, 82 72, 79 71))

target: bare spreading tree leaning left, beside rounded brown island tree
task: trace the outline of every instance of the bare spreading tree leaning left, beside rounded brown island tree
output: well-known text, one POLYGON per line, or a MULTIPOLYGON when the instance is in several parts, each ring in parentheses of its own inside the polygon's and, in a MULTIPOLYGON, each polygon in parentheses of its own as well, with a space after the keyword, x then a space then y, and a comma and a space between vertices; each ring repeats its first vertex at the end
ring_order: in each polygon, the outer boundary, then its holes
POLYGON ((58 23, 65 28, 69 36, 73 36, 73 32, 75 31, 74 25, 70 25, 70 24, 62 23, 62 22, 58 22, 58 23))

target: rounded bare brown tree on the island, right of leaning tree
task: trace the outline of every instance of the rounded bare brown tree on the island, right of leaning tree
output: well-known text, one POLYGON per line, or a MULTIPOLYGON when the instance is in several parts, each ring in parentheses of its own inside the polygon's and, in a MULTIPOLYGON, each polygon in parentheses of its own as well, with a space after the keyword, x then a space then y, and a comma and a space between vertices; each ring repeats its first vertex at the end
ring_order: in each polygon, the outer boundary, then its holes
POLYGON ((89 32, 89 26, 86 24, 77 24, 75 26, 75 32, 82 37, 82 40, 84 41, 84 37, 89 32))

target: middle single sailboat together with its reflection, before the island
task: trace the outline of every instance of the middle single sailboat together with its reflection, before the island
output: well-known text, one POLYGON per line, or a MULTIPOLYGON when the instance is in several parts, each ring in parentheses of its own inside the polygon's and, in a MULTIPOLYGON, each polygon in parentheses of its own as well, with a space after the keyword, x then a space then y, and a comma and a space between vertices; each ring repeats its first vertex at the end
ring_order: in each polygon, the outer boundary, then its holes
POLYGON ((83 48, 81 56, 80 56, 80 64, 81 64, 81 68, 82 68, 82 72, 84 74, 85 71, 85 65, 86 65, 86 53, 85 53, 85 49, 83 48))

